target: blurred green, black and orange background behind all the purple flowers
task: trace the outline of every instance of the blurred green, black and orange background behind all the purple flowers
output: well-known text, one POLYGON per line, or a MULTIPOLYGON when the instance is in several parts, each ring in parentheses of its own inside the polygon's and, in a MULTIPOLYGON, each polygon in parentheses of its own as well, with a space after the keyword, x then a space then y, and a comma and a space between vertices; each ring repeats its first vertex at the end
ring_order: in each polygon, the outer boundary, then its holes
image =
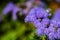
MULTIPOLYGON (((60 7, 60 3, 57 0, 39 1, 45 4, 44 9, 51 9, 51 14, 60 7)), ((12 19, 12 12, 4 15, 3 9, 9 2, 13 2, 17 7, 24 10, 27 8, 25 3, 28 2, 28 0, 0 0, 0 40, 47 40, 45 36, 38 37, 35 34, 36 28, 32 23, 24 22, 27 13, 17 12, 17 20, 12 19)))

